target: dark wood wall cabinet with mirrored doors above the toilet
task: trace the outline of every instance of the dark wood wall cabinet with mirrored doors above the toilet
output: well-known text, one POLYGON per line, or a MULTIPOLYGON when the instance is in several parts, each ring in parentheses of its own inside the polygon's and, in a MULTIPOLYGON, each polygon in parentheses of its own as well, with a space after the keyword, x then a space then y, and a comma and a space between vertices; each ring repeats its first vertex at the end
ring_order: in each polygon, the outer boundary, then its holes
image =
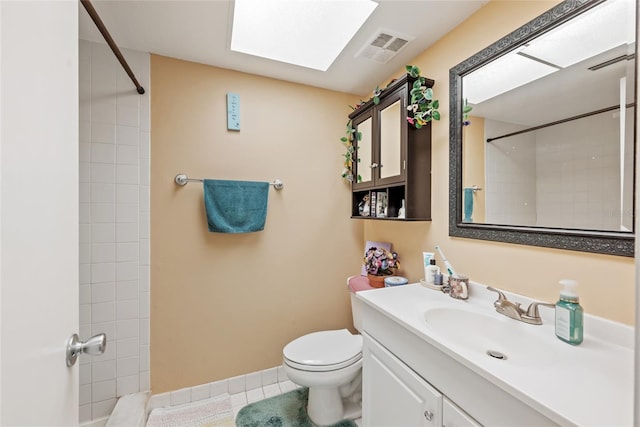
MULTIPOLYGON (((420 129, 407 122, 414 78, 393 82, 376 105, 369 100, 349 118, 355 142, 351 217, 431 220, 431 122, 420 129), (404 218, 401 210, 404 204, 404 218)), ((433 80, 426 79, 432 87, 433 80)))

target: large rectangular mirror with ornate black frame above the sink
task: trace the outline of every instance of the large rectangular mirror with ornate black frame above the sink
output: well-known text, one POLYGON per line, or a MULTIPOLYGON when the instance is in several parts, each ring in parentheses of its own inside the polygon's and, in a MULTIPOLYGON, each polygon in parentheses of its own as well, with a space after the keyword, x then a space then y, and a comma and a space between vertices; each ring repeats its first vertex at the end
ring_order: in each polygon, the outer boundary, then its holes
POLYGON ((451 68, 450 236, 634 256, 635 3, 566 0, 451 68))

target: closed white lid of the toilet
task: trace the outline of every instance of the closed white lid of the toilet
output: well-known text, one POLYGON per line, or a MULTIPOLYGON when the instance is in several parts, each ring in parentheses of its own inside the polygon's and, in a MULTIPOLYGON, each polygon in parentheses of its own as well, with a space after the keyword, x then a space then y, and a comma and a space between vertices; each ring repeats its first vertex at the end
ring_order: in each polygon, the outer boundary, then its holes
POLYGON ((300 369, 340 369, 362 358, 362 337, 346 329, 313 332, 291 341, 282 353, 300 369))

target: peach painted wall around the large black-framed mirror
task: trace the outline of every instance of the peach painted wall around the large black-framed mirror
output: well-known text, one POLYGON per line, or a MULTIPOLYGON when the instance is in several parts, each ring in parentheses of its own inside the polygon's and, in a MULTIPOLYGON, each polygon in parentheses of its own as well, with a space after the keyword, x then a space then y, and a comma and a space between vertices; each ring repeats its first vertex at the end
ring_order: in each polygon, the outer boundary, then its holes
POLYGON ((633 258, 449 237, 449 69, 557 3, 492 1, 410 62, 436 81, 435 96, 440 99, 442 119, 433 125, 433 221, 367 220, 365 240, 393 242, 412 281, 423 275, 422 251, 433 251, 435 245, 472 280, 540 300, 555 301, 558 280, 574 278, 587 313, 632 325, 633 258))

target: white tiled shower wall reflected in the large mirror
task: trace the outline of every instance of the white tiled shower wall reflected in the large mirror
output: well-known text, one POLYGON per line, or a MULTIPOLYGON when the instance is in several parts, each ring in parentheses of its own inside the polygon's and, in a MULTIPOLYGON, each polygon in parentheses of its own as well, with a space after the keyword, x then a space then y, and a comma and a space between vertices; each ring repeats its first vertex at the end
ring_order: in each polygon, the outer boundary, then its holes
MULTIPOLYGON (((490 223, 620 230, 632 227, 633 120, 625 144, 610 112, 486 145, 486 220, 490 223), (621 185, 621 180, 623 184, 621 185), (621 190, 623 188, 623 190, 621 190), (621 193, 624 197, 621 198, 621 193)), ((526 128, 485 121, 487 137, 526 128)))

